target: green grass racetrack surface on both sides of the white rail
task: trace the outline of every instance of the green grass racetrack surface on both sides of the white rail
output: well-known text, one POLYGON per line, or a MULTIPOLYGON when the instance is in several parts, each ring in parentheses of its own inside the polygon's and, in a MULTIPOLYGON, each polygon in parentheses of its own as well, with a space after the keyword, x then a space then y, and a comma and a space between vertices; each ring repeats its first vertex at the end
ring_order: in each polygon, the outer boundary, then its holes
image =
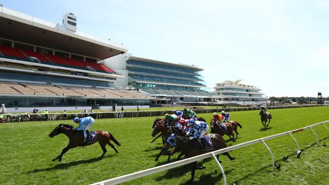
MULTIPOLYGON (((248 142, 256 138, 301 128, 320 121, 329 120, 329 107, 270 110, 274 119, 270 129, 264 130, 257 111, 231 112, 231 117, 241 123, 236 143, 227 141, 228 146, 248 142)), ((209 120, 211 114, 201 114, 209 120)), ((167 157, 154 162, 159 152, 160 140, 153 144, 151 124, 154 117, 96 120, 92 129, 110 131, 122 144, 115 154, 107 146, 105 158, 98 144, 69 150, 62 162, 52 162, 66 146, 68 140, 63 134, 50 138, 48 134, 59 123, 71 121, 23 122, 0 125, 0 183, 2 184, 88 184, 100 180, 136 172, 165 164, 167 157)), ((329 124, 327 124, 329 127, 329 124)), ((300 159, 296 156, 296 145, 289 135, 266 141, 281 171, 272 171, 271 158, 260 143, 231 151, 236 158, 229 161, 220 156, 228 184, 328 184, 329 132, 323 126, 314 130, 320 144, 311 130, 295 133, 303 150, 300 159), (282 161, 282 157, 290 158, 282 161)), ((228 139, 228 136, 224 136, 228 139)), ((175 155, 173 160, 175 160, 175 155)), ((194 184, 222 184, 220 169, 213 159, 203 161, 206 169, 197 170, 194 184)), ((155 173, 126 184, 184 184, 190 178, 189 165, 155 173)))

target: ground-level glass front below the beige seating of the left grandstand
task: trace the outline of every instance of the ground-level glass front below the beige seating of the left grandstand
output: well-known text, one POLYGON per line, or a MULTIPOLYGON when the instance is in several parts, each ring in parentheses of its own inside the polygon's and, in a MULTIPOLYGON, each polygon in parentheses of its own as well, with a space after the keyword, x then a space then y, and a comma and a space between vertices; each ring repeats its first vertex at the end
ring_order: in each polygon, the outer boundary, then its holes
POLYGON ((149 105, 149 100, 139 99, 88 99, 88 98, 64 98, 64 97, 0 97, 0 102, 7 108, 12 107, 81 107, 81 106, 112 106, 114 103, 120 106, 149 105))

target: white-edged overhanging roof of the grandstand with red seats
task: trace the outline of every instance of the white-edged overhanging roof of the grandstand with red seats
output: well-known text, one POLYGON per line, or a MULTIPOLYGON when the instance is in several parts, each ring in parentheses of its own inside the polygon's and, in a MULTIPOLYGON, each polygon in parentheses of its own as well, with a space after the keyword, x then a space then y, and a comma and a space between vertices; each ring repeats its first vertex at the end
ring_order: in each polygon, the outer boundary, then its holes
POLYGON ((59 24, 0 7, 0 37, 103 60, 128 50, 122 45, 66 30, 59 24))

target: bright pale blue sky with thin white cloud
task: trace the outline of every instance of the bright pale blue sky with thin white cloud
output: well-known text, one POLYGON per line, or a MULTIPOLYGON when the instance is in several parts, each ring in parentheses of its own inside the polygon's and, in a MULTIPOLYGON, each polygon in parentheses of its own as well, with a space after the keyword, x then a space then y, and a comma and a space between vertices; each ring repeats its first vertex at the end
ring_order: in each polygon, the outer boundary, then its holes
POLYGON ((204 69, 210 88, 243 79, 268 97, 329 97, 329 0, 0 4, 59 24, 73 13, 78 31, 123 43, 133 56, 204 69))

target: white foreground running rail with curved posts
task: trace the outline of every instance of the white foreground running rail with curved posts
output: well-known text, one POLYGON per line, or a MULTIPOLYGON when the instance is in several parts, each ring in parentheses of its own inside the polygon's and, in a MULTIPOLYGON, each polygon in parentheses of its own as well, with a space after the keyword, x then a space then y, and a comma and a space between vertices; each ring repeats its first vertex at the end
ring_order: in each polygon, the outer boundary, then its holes
POLYGON ((317 144, 317 146, 319 146, 319 137, 317 136, 316 132, 312 129, 312 127, 318 126, 318 125, 323 125, 329 131, 329 128, 324 124, 324 123, 328 123, 328 122, 329 122, 329 120, 328 121, 323 121, 323 122, 320 122, 320 123, 316 123, 316 124, 313 124, 313 125, 310 125, 310 126, 306 126, 304 128, 300 128, 300 129, 296 129, 296 130, 292 130, 292 131, 287 131, 287 132, 283 132, 283 133, 279 133, 279 134, 259 138, 257 140, 242 143, 242 144, 239 144, 239 145, 234 145, 234 146, 227 147, 227 148, 224 148, 224 149, 221 149, 221 150, 217 150, 217 151, 202 154, 202 155, 199 155, 199 156, 191 157, 191 158, 184 159, 184 160, 181 160, 181 161, 176 161, 176 162, 173 162, 173 163, 170 163, 170 164, 165 164, 165 165, 157 166, 157 167, 154 167, 154 168, 149 168, 149 169, 146 169, 146 170, 138 171, 138 172, 135 172, 135 173, 131 173, 131 174, 111 178, 111 179, 100 181, 100 182, 96 182, 96 183, 93 183, 92 185, 96 185, 96 184, 100 184, 100 185, 117 184, 117 183, 121 183, 121 182, 126 182, 128 180, 132 180, 132 179, 143 177, 143 176, 146 176, 146 175, 149 175, 149 174, 153 174, 153 173, 157 173, 157 172, 160 172, 160 171, 172 169, 172 168, 175 168, 175 167, 178 167, 178 166, 182 166, 182 165, 185 165, 185 164, 188 164, 188 163, 191 163, 191 162, 195 162, 195 161, 198 161, 198 160, 201 160, 201 159, 209 158, 209 157, 213 157, 215 159, 215 161, 217 162, 217 164, 220 167, 220 169, 222 171, 222 174, 223 174, 224 184, 226 185, 225 172, 224 172, 224 169, 223 169, 222 165, 219 163, 219 161, 216 158, 217 154, 222 154, 222 153, 225 153, 225 152, 229 152, 229 151, 232 151, 232 150, 235 150, 235 149, 239 149, 239 148, 242 148, 242 147, 245 147, 245 146, 249 146, 249 145, 252 145, 252 144, 255 144, 255 143, 262 142, 263 145, 267 148, 267 150, 269 151, 269 153, 271 155, 272 167, 273 167, 273 170, 274 170, 275 166, 274 166, 273 153, 272 153, 271 149, 266 145, 266 143, 265 143, 266 140, 271 140, 273 138, 289 134, 293 138, 294 142, 297 145, 297 154, 300 154, 300 148, 299 148, 298 142, 292 134, 296 133, 296 132, 299 132, 299 131, 306 130, 306 129, 311 129, 312 132, 314 133, 315 137, 316 137, 316 144, 317 144))

